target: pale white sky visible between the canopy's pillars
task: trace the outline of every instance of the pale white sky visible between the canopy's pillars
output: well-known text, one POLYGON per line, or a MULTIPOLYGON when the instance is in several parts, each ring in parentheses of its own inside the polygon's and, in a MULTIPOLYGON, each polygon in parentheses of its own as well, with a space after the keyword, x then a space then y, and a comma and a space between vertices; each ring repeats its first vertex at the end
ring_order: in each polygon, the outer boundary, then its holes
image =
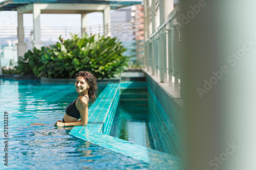
MULTIPOLYGON (((125 0, 122 0, 125 1, 125 0)), ((141 2, 142 0, 129 0, 141 2)), ((0 0, 3 2, 3 0, 0 0)), ((24 14, 24 27, 33 27, 33 15, 24 14)), ((88 14, 88 26, 102 25, 103 14, 95 12, 88 14)), ((74 26, 81 27, 80 14, 41 14, 41 27, 65 27, 74 26)), ((0 11, 0 27, 17 27, 17 12, 16 11, 0 11)))

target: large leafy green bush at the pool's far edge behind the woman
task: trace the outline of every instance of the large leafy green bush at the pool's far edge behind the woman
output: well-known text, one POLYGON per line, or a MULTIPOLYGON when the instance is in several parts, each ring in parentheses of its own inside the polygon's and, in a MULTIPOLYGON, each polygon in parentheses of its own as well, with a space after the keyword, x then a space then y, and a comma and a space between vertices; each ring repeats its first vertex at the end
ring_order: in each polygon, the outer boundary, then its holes
POLYGON ((55 45, 38 51, 28 51, 17 68, 26 74, 32 70, 37 77, 45 78, 74 78, 80 70, 88 70, 97 78, 113 78, 127 69, 129 61, 122 56, 126 49, 116 38, 103 36, 72 35, 68 40, 60 36, 55 45))

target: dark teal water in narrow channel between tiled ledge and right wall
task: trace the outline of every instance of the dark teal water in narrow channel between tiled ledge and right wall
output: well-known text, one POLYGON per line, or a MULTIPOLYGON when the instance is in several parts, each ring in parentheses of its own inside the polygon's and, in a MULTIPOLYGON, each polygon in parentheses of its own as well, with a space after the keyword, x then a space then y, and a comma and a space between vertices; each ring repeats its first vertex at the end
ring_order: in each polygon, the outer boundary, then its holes
POLYGON ((156 141, 148 114, 147 88, 122 89, 111 136, 164 152, 156 141))

